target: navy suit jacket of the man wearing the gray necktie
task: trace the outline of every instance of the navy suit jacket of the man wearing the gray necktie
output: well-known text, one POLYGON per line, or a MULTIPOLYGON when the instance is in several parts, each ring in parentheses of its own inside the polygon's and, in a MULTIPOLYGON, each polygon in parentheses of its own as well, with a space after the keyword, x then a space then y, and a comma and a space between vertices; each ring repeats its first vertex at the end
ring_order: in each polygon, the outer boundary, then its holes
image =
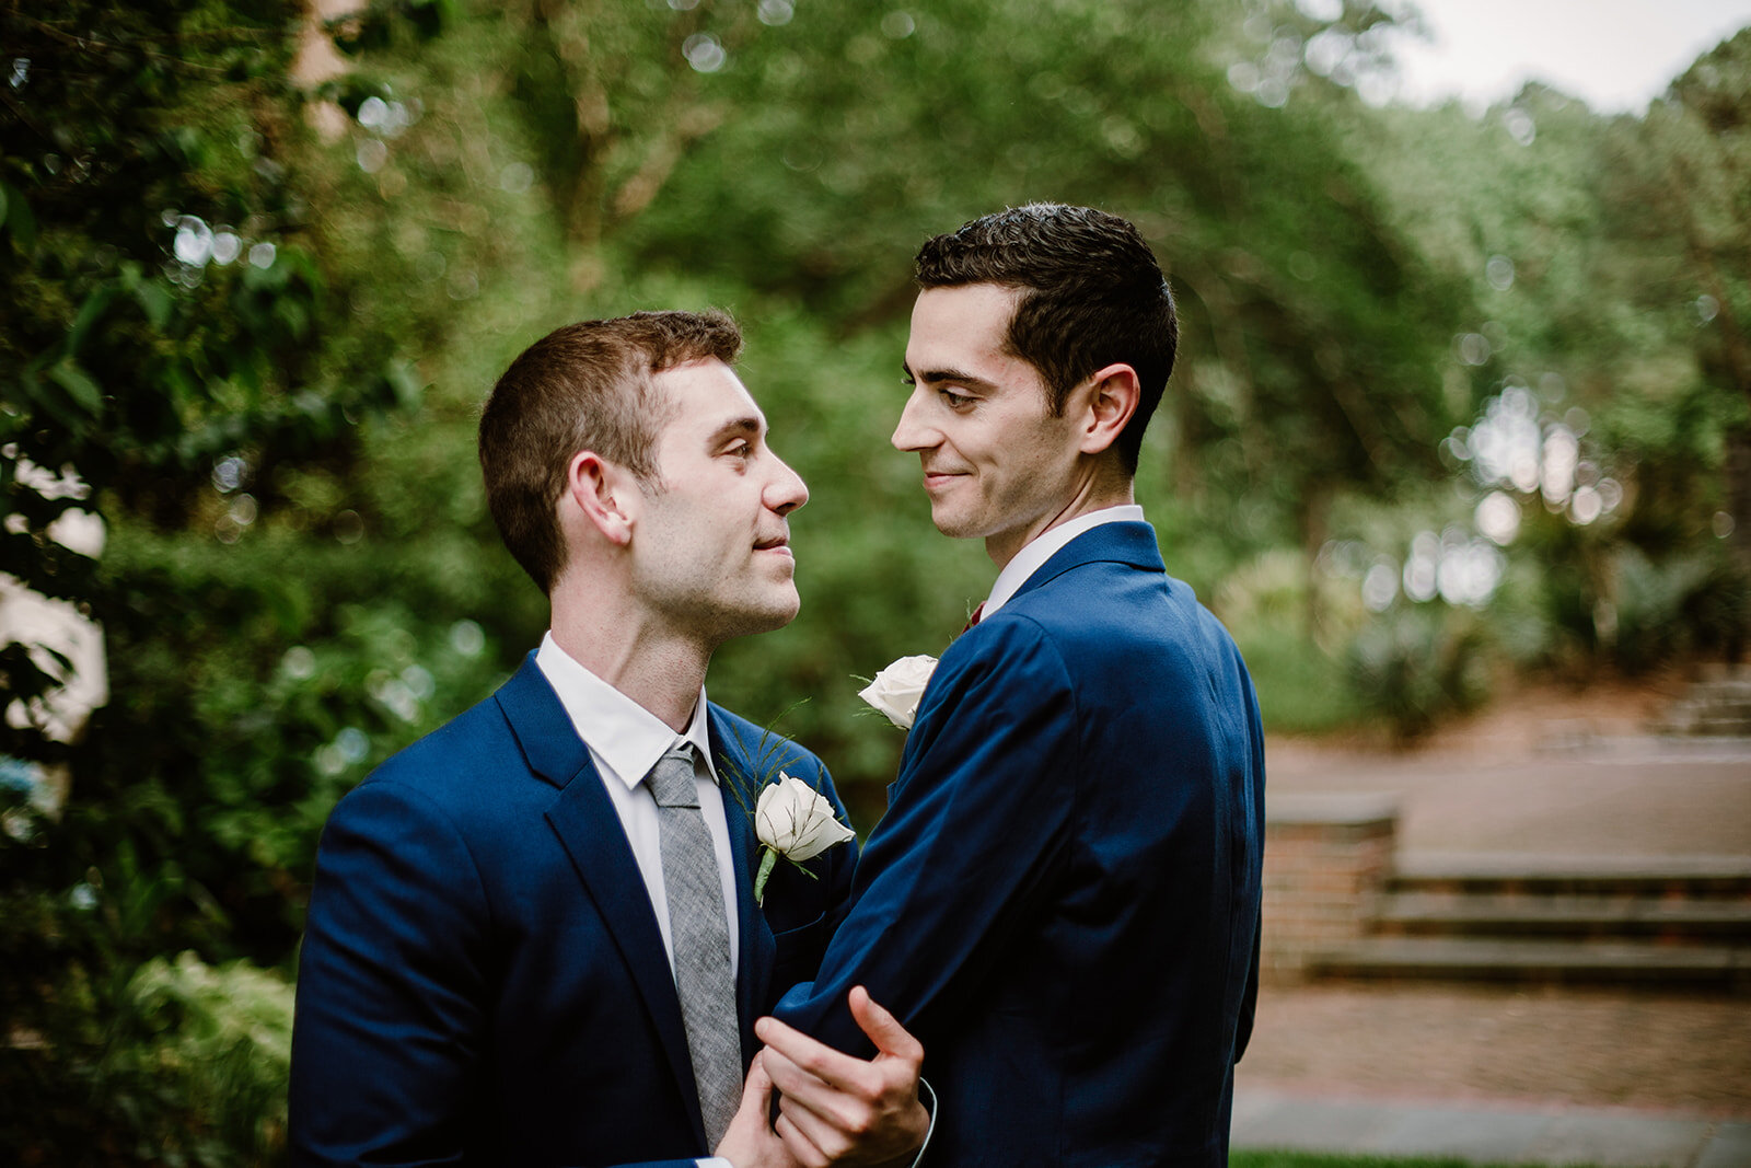
MULTIPOLYGON (((767 777, 762 730, 713 706, 720 781, 767 777)), ((819 760, 770 763, 839 802, 819 760)), ((856 844, 777 865, 725 793, 742 1061, 812 977, 856 844)), ((844 809, 840 807, 840 814, 844 809)), ((674 975, 590 753, 534 655, 378 767, 331 814, 298 975, 296 1164, 625 1164, 707 1156, 674 975)))

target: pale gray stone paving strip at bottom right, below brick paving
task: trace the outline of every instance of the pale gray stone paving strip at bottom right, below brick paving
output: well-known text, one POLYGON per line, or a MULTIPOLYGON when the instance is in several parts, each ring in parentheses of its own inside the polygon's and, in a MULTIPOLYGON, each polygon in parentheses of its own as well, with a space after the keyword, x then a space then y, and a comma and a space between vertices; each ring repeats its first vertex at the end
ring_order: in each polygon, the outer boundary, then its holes
POLYGON ((1247 1089, 1233 1147, 1445 1156, 1478 1164, 1746 1168, 1751 1121, 1606 1107, 1415 1103, 1247 1089))

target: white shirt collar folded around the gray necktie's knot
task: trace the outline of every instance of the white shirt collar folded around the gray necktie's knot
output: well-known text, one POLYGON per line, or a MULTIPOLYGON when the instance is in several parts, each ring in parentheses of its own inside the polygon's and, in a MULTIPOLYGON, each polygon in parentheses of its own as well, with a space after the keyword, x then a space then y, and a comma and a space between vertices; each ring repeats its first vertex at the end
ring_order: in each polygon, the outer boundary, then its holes
POLYGON ((699 702, 693 704, 693 718, 686 730, 676 735, 662 718, 580 665, 553 641, 552 632, 541 637, 536 667, 553 686, 578 737, 629 790, 650 774, 676 739, 697 746, 699 756, 706 760, 706 772, 713 783, 718 781, 718 770, 711 762, 706 686, 699 688, 699 702))

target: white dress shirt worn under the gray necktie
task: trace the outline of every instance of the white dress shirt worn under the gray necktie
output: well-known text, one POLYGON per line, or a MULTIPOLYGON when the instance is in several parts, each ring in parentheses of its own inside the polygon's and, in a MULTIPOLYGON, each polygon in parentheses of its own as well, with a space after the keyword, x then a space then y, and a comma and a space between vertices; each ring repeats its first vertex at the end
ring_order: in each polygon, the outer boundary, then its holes
POLYGON ((711 846, 718 853, 723 909, 730 925, 730 975, 734 977, 741 956, 737 953, 741 937, 735 916, 735 863, 734 853, 730 853, 723 792, 718 790, 716 769, 711 762, 704 686, 699 690, 699 704, 693 706, 693 721, 688 723, 685 734, 678 735, 662 718, 573 660, 553 641, 552 632, 541 637, 536 667, 559 693, 559 702, 566 707, 571 725, 578 728, 578 737, 590 748, 590 762, 601 772, 608 800, 620 814, 620 827, 627 834, 627 842, 632 844, 632 858, 637 860, 639 876, 644 877, 644 891, 650 893, 651 911, 657 914, 657 928, 662 930, 662 946, 669 953, 671 972, 674 970, 674 942, 669 939, 669 895, 664 891, 662 881, 657 799, 644 785, 644 776, 678 739, 699 748, 699 758, 704 763, 693 763, 693 781, 699 785, 699 811, 706 816, 706 830, 711 832, 711 846))

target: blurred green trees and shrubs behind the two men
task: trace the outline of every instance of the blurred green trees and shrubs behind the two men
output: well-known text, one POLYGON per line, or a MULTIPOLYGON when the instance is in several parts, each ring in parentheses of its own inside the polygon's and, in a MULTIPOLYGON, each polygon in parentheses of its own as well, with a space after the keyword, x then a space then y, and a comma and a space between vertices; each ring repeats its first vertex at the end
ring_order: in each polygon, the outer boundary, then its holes
POLYGON ((5 0, 0 1157, 278 1157, 324 816, 545 629, 473 441, 571 320, 742 322, 804 609, 709 688, 863 830, 900 735, 856 678, 993 576, 888 447, 911 257, 1028 200, 1170 275, 1136 489, 1273 742, 1737 660, 1730 11, 1590 103, 1450 96, 1418 11, 1357 0, 5 0))

